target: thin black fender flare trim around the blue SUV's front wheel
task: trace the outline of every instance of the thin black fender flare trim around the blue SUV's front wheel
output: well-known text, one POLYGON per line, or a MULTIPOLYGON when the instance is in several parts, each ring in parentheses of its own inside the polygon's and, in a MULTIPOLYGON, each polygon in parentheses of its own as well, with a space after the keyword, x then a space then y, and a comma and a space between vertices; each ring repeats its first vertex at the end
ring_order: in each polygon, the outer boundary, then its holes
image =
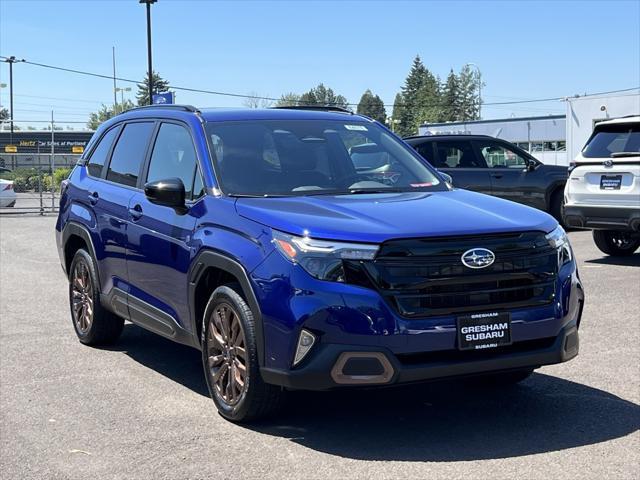
MULTIPOLYGON (((193 260, 193 262, 191 262, 191 267, 189 268, 189 305, 191 306, 191 331, 193 332, 194 337, 196 336, 196 332, 198 331, 198 321, 202 321, 202 319, 196 318, 195 315, 196 286, 198 285, 198 281, 200 280, 203 272, 208 267, 219 268, 220 270, 224 270, 225 272, 230 273, 238 279, 238 283, 242 288, 244 298, 246 299, 247 304, 249 304, 249 308, 251 308, 251 312, 253 313, 253 318, 255 321, 256 348, 258 350, 258 363, 260 366, 263 366, 264 329, 262 325, 262 312, 260 311, 258 299, 256 298, 253 288, 251 287, 249 275, 247 274, 245 268, 236 260, 228 257, 225 254, 213 250, 204 250, 200 252, 193 260)), ((199 344, 200 339, 196 338, 196 341, 199 344)))

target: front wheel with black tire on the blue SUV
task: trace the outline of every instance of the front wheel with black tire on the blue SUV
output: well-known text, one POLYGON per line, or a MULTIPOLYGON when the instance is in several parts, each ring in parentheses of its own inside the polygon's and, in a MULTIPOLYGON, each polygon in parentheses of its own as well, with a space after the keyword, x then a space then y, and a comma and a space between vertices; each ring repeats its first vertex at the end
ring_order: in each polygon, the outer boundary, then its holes
POLYGON ((255 319, 237 285, 218 287, 205 308, 202 365, 218 412, 232 422, 264 418, 284 391, 264 383, 256 348, 255 319))

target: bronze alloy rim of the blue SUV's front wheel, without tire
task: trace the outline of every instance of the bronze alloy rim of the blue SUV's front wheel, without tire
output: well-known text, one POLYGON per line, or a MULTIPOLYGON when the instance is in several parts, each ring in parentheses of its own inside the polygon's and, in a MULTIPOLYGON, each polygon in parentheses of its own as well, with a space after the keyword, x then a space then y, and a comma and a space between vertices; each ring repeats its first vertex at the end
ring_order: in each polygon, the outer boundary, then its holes
POLYGON ((236 405, 247 388, 247 352, 238 313, 228 303, 220 303, 209 318, 207 365, 211 384, 218 397, 236 405))

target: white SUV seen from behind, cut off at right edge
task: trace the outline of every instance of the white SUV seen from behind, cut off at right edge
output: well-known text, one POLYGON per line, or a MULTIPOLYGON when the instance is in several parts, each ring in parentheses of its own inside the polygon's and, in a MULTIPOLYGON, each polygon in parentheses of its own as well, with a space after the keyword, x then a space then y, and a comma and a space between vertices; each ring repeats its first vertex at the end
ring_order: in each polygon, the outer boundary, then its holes
POLYGON ((596 124, 570 172, 565 224, 593 230, 608 255, 632 255, 640 247, 640 115, 596 124))

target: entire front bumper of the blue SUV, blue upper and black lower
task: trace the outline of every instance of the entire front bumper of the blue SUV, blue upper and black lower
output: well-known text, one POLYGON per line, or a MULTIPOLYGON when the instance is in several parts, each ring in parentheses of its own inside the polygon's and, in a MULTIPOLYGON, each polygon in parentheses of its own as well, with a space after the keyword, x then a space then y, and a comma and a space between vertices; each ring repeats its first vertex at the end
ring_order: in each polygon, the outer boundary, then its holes
POLYGON ((470 352, 458 350, 455 315, 404 318, 377 291, 315 280, 299 267, 287 271, 284 262, 271 255, 251 275, 262 313, 260 367, 267 383, 308 390, 392 385, 536 368, 578 353, 584 292, 575 261, 560 269, 551 303, 508 310, 512 345, 470 352), (293 366, 303 328, 317 341, 293 366), (364 358, 344 358, 353 353, 364 358), (385 369, 385 362, 391 368, 385 369))

